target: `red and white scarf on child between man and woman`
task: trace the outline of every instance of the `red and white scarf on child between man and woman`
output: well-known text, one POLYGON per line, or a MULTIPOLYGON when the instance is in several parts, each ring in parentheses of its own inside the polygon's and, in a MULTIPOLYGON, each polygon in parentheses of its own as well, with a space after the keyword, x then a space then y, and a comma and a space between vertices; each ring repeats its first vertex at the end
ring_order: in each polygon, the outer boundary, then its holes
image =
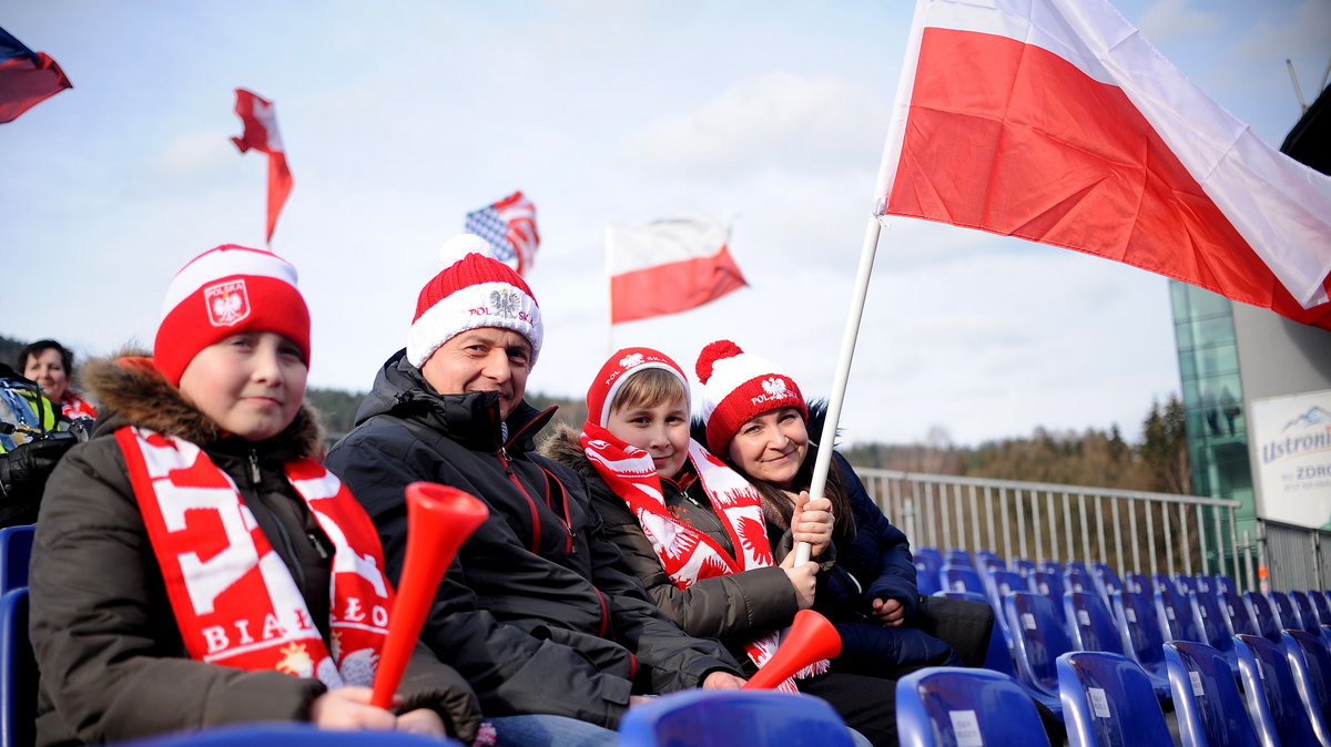
MULTIPOLYGON (((727 552, 705 532, 675 518, 666 506, 660 476, 646 451, 626 444, 594 423, 583 425, 579 441, 611 492, 624 498, 638 516, 643 534, 651 541, 662 568, 675 586, 688 589, 700 578, 773 565, 757 490, 697 441, 689 439, 688 459, 737 554, 727 552)), ((779 642, 779 634, 772 633, 751 641, 744 649, 753 663, 761 667, 776 653, 779 642)), ((827 669, 828 662, 823 659, 804 667, 795 677, 803 679, 823 674, 827 669)), ((789 679, 777 689, 796 691, 789 679)))

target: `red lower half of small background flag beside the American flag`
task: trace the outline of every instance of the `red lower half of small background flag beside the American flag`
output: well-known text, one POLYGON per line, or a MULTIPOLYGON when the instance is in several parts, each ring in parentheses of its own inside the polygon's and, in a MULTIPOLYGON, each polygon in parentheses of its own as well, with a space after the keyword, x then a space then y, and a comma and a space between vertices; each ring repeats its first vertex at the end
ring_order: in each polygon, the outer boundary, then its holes
POLYGON ((745 284, 725 246, 712 257, 631 270, 610 279, 611 323, 687 311, 745 284))

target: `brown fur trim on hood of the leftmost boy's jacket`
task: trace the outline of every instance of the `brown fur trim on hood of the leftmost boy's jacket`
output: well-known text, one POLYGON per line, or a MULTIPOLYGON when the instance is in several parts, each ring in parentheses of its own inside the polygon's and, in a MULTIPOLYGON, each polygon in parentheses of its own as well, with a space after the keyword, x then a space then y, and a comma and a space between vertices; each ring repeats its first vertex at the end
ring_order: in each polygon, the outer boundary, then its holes
MULTIPOLYGON (((89 360, 84 383, 101 403, 95 436, 124 425, 141 425, 158 433, 209 447, 225 436, 197 407, 185 401, 142 351, 122 351, 112 358, 89 360)), ((302 403, 295 419, 269 443, 293 456, 322 459, 323 428, 318 413, 302 403)))

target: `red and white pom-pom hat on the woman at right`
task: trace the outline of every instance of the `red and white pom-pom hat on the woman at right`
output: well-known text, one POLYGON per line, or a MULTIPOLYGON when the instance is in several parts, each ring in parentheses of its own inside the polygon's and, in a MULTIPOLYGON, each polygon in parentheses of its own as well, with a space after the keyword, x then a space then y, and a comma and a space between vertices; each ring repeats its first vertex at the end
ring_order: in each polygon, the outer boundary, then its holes
POLYGON ((793 407, 805 421, 809 419, 809 408, 795 379, 731 340, 716 340, 697 354, 697 380, 703 383, 707 448, 719 457, 724 459, 740 425, 753 416, 793 407))

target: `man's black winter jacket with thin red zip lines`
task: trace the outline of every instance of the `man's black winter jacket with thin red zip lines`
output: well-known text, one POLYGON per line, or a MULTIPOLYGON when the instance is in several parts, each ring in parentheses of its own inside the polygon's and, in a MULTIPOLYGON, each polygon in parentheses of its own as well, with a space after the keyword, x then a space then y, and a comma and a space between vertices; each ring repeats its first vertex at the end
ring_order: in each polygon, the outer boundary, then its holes
POLYGON ((443 482, 483 500, 490 517, 439 585, 422 639, 458 667, 487 714, 615 728, 635 682, 668 693, 739 669, 717 642, 660 614, 606 540, 583 481, 531 453, 552 413, 519 404, 504 441, 498 393, 439 395, 399 351, 327 464, 374 520, 390 578, 406 552, 407 484, 443 482))

